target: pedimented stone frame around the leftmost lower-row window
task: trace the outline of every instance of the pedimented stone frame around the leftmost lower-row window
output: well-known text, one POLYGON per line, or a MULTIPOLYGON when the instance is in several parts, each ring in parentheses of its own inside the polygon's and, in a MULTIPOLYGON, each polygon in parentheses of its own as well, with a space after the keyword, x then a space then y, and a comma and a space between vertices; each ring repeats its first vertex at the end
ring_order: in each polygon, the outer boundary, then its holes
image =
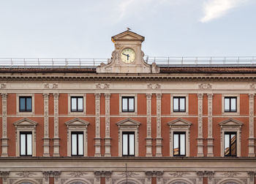
POLYGON ((21 120, 13 123, 15 126, 15 134, 16 134, 16 156, 20 156, 20 131, 31 131, 32 133, 32 156, 36 156, 36 128, 37 122, 34 120, 29 120, 28 118, 23 118, 21 120))

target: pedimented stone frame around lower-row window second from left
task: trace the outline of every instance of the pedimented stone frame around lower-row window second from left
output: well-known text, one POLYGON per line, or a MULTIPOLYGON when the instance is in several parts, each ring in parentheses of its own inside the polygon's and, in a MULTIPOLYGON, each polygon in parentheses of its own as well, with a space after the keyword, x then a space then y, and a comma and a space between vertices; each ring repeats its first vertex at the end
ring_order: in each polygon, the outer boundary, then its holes
POLYGON ((67 156, 72 156, 72 138, 71 138, 71 133, 72 131, 81 131, 83 132, 83 156, 87 156, 87 145, 88 145, 88 139, 87 139, 87 126, 89 126, 89 122, 86 120, 81 120, 80 118, 75 118, 72 120, 67 121, 66 123, 67 126, 67 156))

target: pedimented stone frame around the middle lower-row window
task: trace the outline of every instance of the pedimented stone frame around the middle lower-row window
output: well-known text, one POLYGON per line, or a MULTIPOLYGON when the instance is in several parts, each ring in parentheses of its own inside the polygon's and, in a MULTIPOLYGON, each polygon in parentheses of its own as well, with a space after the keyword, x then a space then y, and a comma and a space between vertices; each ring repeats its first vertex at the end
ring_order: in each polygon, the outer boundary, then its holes
POLYGON ((116 123, 118 126, 118 156, 123 156, 123 131, 135 132, 135 156, 139 155, 139 126, 140 122, 127 118, 116 123))

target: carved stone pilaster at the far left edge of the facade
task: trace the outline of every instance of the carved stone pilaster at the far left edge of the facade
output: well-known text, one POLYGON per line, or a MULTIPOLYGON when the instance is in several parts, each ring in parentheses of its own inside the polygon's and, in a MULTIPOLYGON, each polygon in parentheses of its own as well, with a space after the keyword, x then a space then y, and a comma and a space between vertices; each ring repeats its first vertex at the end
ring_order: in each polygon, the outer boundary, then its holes
POLYGON ((8 137, 7 137, 7 93, 1 93, 2 104, 2 136, 1 136, 1 156, 8 156, 8 137))

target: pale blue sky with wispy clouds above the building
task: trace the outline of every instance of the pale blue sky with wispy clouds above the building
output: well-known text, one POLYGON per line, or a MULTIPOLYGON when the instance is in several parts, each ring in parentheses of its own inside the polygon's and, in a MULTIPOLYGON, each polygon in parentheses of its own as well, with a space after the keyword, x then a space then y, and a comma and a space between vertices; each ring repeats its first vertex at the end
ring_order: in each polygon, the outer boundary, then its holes
POLYGON ((0 58, 110 58, 127 27, 149 56, 256 56, 256 0, 0 0, 0 58))

